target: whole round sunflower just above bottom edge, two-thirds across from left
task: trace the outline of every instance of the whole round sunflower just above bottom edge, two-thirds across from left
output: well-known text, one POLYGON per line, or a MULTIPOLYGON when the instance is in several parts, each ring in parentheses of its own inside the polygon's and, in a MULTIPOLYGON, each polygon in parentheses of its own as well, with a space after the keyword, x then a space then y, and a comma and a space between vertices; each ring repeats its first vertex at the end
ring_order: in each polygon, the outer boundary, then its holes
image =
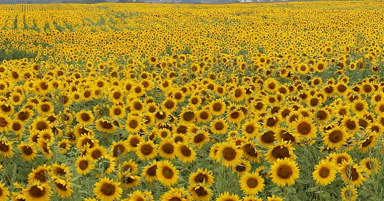
POLYGON ((262 178, 257 172, 246 172, 240 180, 240 188, 247 195, 257 195, 264 189, 264 178, 262 178))

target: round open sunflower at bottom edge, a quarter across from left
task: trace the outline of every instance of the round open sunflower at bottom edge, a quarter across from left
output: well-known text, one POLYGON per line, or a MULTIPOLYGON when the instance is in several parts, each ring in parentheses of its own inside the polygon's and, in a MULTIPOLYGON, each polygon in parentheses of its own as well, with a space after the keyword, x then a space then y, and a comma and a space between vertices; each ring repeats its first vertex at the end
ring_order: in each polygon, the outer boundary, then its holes
POLYGON ((110 180, 110 178, 100 178, 99 181, 95 183, 93 193, 97 199, 105 201, 120 199, 123 189, 120 188, 119 185, 120 183, 115 183, 113 180, 110 180))

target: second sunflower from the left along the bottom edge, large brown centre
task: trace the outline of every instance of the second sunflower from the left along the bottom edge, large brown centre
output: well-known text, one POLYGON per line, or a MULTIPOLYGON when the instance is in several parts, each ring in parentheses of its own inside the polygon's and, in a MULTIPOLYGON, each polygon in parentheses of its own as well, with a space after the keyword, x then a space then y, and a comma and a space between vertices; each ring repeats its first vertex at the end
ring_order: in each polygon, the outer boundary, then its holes
POLYGON ((23 190, 23 199, 28 201, 48 201, 52 194, 51 187, 46 183, 34 181, 23 190))

